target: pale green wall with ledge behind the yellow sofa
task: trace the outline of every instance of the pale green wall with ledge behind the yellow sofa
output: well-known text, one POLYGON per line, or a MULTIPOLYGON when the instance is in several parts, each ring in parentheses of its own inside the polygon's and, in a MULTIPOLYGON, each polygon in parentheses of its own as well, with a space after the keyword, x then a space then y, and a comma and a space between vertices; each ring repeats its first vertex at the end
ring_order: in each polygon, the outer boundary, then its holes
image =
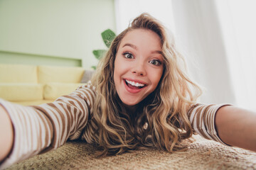
POLYGON ((89 68, 114 0, 0 0, 0 62, 89 68))

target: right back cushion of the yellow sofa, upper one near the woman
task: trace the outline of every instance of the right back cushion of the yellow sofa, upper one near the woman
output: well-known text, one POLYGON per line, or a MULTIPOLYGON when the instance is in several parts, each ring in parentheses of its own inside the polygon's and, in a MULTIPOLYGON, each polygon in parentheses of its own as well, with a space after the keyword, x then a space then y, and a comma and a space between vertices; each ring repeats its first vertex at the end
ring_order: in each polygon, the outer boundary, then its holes
POLYGON ((38 82, 79 83, 84 70, 82 67, 38 66, 38 82))

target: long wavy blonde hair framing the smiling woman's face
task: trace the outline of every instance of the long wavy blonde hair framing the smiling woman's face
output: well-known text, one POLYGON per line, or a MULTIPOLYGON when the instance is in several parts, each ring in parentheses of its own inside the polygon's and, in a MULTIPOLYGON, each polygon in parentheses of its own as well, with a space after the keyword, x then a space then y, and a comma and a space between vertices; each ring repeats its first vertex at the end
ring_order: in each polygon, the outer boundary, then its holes
POLYGON ((101 155, 121 154, 140 147, 169 152, 186 149, 183 140, 193 135, 187 111, 201 95, 201 89, 188 78, 174 40, 168 40, 164 26, 155 18, 142 13, 114 38, 92 77, 92 85, 97 95, 85 140, 100 147, 101 155), (135 113, 128 113, 114 86, 114 60, 124 36, 141 28, 152 30, 161 38, 164 72, 155 91, 139 103, 135 113))

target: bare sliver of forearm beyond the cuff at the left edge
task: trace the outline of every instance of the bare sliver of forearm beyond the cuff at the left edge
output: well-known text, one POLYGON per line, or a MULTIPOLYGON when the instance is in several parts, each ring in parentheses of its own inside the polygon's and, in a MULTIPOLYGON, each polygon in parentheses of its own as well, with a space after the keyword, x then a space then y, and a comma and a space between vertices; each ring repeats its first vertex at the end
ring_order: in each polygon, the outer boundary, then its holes
POLYGON ((11 119, 3 106, 0 105, 0 162, 11 152, 14 142, 14 130, 11 119))

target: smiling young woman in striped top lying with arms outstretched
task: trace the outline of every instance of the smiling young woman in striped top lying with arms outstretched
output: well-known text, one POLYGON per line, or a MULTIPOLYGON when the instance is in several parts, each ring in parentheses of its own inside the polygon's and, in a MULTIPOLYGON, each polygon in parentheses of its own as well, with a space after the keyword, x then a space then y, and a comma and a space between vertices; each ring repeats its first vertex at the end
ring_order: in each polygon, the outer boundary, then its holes
POLYGON ((140 147, 175 152, 197 132, 256 151, 256 113, 197 103, 201 90, 185 69, 164 26, 142 13, 113 40, 87 85, 40 106, 0 101, 1 168, 75 139, 102 155, 140 147))

